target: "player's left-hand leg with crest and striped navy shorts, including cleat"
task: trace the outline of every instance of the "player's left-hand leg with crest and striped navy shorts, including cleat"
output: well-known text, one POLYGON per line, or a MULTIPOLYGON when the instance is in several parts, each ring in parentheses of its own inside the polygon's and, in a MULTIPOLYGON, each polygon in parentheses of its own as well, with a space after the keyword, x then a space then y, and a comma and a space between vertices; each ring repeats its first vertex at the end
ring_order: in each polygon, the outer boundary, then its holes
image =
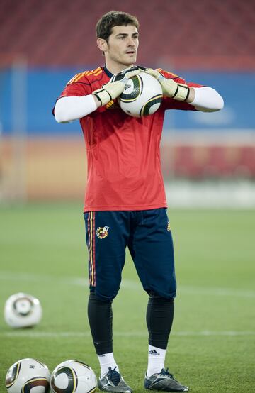
POLYGON ((84 215, 91 291, 88 317, 101 366, 99 389, 131 393, 132 389, 121 377, 113 356, 112 302, 120 287, 128 238, 128 219, 126 214, 120 213, 97 211, 84 215))

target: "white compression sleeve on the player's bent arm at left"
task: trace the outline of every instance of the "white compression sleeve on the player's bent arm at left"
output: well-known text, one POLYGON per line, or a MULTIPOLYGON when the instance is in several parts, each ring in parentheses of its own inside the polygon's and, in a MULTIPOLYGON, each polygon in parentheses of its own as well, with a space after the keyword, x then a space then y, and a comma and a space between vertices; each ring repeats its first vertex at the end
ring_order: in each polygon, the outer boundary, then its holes
POLYGON ((54 115, 57 123, 67 123, 96 111, 97 106, 92 94, 88 96, 69 96, 57 100, 54 115))

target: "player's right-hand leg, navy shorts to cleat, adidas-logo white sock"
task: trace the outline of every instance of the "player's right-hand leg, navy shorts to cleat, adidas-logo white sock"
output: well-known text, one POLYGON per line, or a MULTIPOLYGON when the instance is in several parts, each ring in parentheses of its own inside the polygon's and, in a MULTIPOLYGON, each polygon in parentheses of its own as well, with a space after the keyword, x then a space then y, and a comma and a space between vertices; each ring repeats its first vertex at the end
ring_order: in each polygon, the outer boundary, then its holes
POLYGON ((149 355, 145 388, 188 392, 188 388, 174 380, 164 368, 176 296, 174 247, 166 209, 140 212, 129 248, 142 285, 150 296, 147 306, 149 355))

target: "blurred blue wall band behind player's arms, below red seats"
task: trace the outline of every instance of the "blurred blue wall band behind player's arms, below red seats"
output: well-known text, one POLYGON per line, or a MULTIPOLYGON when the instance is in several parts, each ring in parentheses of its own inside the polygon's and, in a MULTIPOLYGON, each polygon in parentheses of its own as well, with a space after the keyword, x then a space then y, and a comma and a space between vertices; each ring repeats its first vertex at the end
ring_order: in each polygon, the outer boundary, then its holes
MULTIPOLYGON (((91 69, 91 67, 88 67, 91 69)), ((84 67, 86 70, 86 67, 84 67)), ((28 135, 79 133, 79 122, 60 125, 52 116, 52 107, 64 85, 77 69, 28 70, 26 75, 26 99, 28 135)), ((177 74, 178 70, 175 70, 177 74)), ((217 129, 249 129, 255 131, 254 96, 255 72, 180 72, 187 81, 215 87, 225 99, 225 108, 215 114, 198 114, 190 111, 168 111, 165 128, 177 130, 200 130, 205 127, 213 132, 217 129), (236 86, 238 83, 238 93, 236 86)), ((13 131, 13 70, 0 71, 0 121, 4 134, 13 131)))

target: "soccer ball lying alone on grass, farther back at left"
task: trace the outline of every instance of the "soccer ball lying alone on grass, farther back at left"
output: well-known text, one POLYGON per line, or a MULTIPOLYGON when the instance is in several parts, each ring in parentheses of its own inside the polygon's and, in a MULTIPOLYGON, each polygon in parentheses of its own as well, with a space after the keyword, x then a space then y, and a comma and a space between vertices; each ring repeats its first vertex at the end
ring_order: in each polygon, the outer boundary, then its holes
POLYGON ((11 328, 30 328, 42 318, 40 301, 29 294, 13 294, 6 300, 4 319, 11 328))

